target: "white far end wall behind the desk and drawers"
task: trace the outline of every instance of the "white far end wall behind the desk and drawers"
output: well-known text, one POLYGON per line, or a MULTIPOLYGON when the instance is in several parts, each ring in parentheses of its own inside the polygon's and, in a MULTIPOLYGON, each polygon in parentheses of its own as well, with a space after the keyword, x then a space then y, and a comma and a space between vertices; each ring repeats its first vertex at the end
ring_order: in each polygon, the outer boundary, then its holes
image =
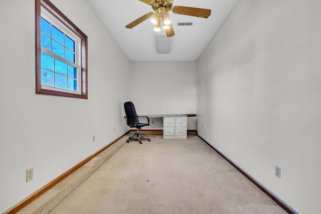
MULTIPOLYGON (((196 62, 132 61, 130 100, 137 114, 196 113, 196 62)), ((148 129, 163 127, 155 122, 148 129)), ((188 129, 196 129, 195 117, 188 118, 188 129)))

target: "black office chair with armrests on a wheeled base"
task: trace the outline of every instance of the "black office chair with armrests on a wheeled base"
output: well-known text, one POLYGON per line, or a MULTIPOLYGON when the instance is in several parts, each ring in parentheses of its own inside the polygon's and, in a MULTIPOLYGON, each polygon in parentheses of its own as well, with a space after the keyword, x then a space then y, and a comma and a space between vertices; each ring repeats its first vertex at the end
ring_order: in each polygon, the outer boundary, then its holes
POLYGON ((124 108, 125 108, 125 114, 127 117, 127 125, 130 128, 136 128, 137 129, 137 135, 136 137, 129 137, 129 139, 127 140, 127 143, 129 143, 130 141, 139 141, 140 144, 142 144, 142 140, 148 140, 150 141, 149 138, 144 138, 144 137, 139 137, 139 130, 141 129, 141 127, 143 126, 149 126, 149 118, 146 116, 137 116, 136 114, 136 110, 135 110, 135 106, 132 102, 125 102, 124 103, 124 108), (139 122, 139 118, 144 117, 147 118, 147 123, 140 123, 139 122))

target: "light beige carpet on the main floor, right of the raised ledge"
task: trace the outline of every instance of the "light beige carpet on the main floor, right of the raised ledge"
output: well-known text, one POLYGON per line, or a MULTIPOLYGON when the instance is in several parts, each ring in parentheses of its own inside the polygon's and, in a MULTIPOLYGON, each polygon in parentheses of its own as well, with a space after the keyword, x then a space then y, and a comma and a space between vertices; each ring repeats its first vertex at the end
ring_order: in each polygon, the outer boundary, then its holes
POLYGON ((287 213, 198 136, 125 143, 50 213, 287 213))

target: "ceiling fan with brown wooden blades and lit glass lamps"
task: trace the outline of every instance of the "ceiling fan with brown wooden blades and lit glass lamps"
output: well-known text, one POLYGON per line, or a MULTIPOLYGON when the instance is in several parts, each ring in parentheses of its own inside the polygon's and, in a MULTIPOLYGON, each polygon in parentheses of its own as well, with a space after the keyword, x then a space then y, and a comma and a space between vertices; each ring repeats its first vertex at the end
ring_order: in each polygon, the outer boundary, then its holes
POLYGON ((211 15, 211 10, 202 8, 191 8, 183 6, 174 6, 174 0, 139 0, 147 5, 150 5, 155 12, 149 12, 135 21, 126 25, 126 28, 133 28, 136 25, 151 17, 151 22, 154 24, 154 31, 161 31, 161 20, 163 23, 163 29, 166 32, 167 37, 173 37, 175 35, 172 22, 170 20, 169 11, 174 14, 181 14, 193 17, 208 18, 211 15))

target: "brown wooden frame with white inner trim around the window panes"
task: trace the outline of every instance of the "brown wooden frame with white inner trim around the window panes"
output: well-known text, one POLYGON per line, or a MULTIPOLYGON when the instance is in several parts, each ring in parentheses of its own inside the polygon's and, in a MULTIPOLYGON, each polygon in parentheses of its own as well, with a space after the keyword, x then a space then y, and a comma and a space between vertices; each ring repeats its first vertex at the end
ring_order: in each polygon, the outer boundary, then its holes
POLYGON ((36 1, 36 94, 63 96, 88 99, 88 38, 87 36, 73 24, 58 8, 56 8, 49 0, 36 1), (79 83, 81 85, 81 93, 68 93, 56 90, 49 90, 42 87, 41 84, 41 7, 46 9, 50 14, 63 23, 68 29, 80 38, 81 43, 81 74, 79 83))

